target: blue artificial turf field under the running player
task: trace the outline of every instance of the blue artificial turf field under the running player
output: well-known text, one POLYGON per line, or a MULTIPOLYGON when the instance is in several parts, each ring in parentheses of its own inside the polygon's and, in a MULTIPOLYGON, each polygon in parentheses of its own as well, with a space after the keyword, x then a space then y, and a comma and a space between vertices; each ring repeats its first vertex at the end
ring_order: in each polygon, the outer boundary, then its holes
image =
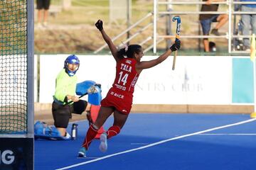
POLYGON ((78 140, 35 141, 36 170, 255 169, 256 121, 250 115, 130 114, 107 152, 94 140, 86 159, 76 156, 88 125, 78 124, 78 140))

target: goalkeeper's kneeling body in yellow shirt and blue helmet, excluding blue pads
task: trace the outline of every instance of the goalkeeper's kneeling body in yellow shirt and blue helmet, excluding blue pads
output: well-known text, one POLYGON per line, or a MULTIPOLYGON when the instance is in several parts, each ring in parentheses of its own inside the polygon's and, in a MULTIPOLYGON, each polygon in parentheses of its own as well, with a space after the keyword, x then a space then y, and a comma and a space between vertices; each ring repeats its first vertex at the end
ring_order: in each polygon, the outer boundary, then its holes
POLYGON ((66 128, 72 118, 71 113, 82 114, 90 111, 90 103, 82 101, 75 96, 78 77, 75 73, 80 67, 80 60, 75 55, 70 55, 64 62, 64 68, 55 80, 55 94, 53 96, 52 113, 54 125, 63 137, 69 137, 66 128))

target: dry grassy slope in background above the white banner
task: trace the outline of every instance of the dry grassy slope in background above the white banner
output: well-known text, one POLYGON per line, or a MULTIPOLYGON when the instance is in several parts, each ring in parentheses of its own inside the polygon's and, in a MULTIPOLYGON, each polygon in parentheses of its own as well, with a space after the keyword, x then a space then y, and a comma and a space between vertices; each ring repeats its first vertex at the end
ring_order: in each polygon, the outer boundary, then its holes
MULTIPOLYGON (((164 11, 165 6, 160 6, 160 8, 164 11)), ((196 6, 174 6, 174 11, 196 10, 198 10, 196 6)), ((153 1, 132 1, 131 23, 137 22, 140 18, 143 18, 147 13, 152 11, 153 1)), ((47 27, 38 28, 37 25, 35 25, 35 52, 37 54, 92 53, 104 44, 100 34, 94 26, 94 23, 99 18, 104 21, 105 30, 107 30, 107 33, 109 33, 112 38, 119 35, 119 33, 122 33, 122 31, 127 28, 127 24, 123 21, 117 21, 119 24, 110 23, 109 4, 107 0, 73 1, 73 6, 69 10, 61 11, 55 17, 50 16, 47 27)), ((182 35, 198 35, 198 30, 200 29, 198 15, 183 15, 181 16, 181 19, 182 35)), ((151 21, 153 21, 152 18, 132 30, 131 35, 151 21)), ((172 33, 174 34, 175 29, 176 23, 172 26, 172 33)), ((228 28, 225 27, 221 31, 225 32, 227 29, 228 28)), ((159 18, 158 33, 159 35, 166 35, 166 17, 159 18)), ((142 40, 145 40, 152 35, 153 28, 151 27, 146 29, 143 33, 140 33, 140 35, 137 38, 134 38, 130 43, 142 42, 142 40)), ((114 43, 119 45, 124 40, 126 40, 126 35, 122 36, 114 43)), ((219 47, 226 47, 228 44, 228 40, 226 39, 213 39, 213 41, 218 41, 219 47)), ((148 44, 144 45, 144 48, 148 47, 148 45, 151 45, 152 43, 152 41, 149 41, 148 44)), ((159 48, 164 49, 165 47, 165 41, 159 44, 159 48)), ((182 39, 181 50, 197 49, 198 39, 182 39)))

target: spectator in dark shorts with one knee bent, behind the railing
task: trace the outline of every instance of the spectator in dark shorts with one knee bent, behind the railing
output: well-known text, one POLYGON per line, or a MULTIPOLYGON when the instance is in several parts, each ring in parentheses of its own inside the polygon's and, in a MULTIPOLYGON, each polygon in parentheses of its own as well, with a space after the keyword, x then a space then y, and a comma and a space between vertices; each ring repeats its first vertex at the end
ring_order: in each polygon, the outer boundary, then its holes
MULTIPOLYGON (((218 4, 211 4, 212 2, 218 2, 223 0, 203 0, 206 4, 201 6, 201 11, 218 11, 218 4)), ((203 29, 203 35, 220 35, 218 29, 221 28, 228 21, 228 14, 200 14, 199 21, 203 29), (215 28, 210 31, 211 23, 217 22, 215 28)), ((208 38, 203 38, 203 45, 205 52, 210 51, 208 38)))

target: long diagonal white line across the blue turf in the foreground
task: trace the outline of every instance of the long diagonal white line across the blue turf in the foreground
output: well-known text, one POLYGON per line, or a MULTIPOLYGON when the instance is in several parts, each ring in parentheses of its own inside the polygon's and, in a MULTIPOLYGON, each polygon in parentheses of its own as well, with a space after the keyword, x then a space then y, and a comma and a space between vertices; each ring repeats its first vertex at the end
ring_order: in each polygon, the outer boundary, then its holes
POLYGON ((252 118, 252 119, 244 120, 244 121, 238 122, 238 123, 233 123, 233 124, 229 124, 229 125, 223 125, 223 126, 219 126, 219 127, 216 127, 216 128, 210 128, 208 130, 202 130, 202 131, 199 131, 199 132, 193 132, 193 133, 190 133, 190 134, 187 134, 187 135, 181 135, 181 136, 178 136, 178 137, 169 138, 167 140, 161 140, 159 142, 155 142, 155 143, 143 146, 143 147, 137 147, 137 148, 134 148, 134 149, 129 149, 129 150, 123 151, 123 152, 117 152, 115 154, 109 154, 109 155, 106 155, 105 157, 100 157, 100 158, 97 158, 97 159, 92 159, 90 161, 81 162, 79 164, 73 164, 73 165, 70 165, 70 166, 65 166, 63 168, 56 169, 56 170, 70 169, 70 168, 74 168, 76 166, 81 166, 81 165, 84 165, 84 164, 90 164, 92 162, 97 162, 97 161, 100 161, 102 159, 107 159, 107 158, 110 158, 110 157, 114 157, 114 156, 117 156, 119 154, 126 154, 126 153, 134 152, 134 151, 137 151, 137 150, 140 150, 140 149, 145 149, 145 148, 148 148, 148 147, 154 147, 156 145, 160 145, 162 143, 169 142, 171 140, 178 140, 178 139, 181 139, 181 138, 184 138, 184 137, 190 137, 190 136, 193 136, 193 135, 199 135, 199 134, 204 133, 204 132, 211 132, 213 130, 219 130, 219 129, 223 129, 223 128, 228 128, 228 127, 235 126, 235 125, 242 125, 244 123, 250 123, 250 122, 255 121, 255 120, 256 120, 256 118, 252 118))

